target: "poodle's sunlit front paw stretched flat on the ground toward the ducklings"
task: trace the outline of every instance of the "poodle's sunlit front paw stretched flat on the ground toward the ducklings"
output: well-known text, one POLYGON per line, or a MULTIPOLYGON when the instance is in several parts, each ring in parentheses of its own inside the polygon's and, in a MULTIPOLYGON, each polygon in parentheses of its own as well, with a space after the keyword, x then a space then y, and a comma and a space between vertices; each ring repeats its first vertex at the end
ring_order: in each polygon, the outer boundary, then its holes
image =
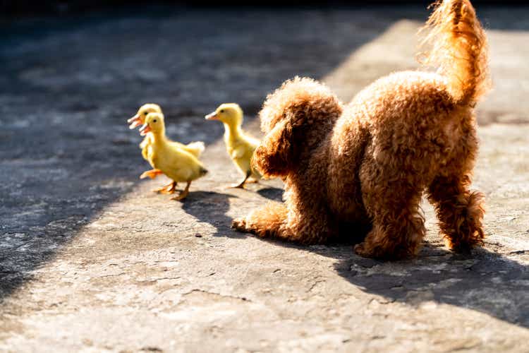
POLYGON ((292 234, 286 227, 287 215, 288 209, 284 204, 269 202, 246 217, 236 218, 231 227, 259 237, 291 239, 292 234))

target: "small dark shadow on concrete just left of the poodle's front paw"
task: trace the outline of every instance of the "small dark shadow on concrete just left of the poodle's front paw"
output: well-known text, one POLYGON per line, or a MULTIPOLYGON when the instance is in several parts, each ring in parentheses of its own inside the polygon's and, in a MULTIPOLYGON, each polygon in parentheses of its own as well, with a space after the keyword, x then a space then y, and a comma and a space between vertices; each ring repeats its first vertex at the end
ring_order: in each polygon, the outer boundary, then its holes
POLYGON ((195 191, 186 198, 182 210, 199 222, 215 227, 213 237, 245 238, 246 234, 231 229, 231 217, 226 215, 230 208, 229 199, 236 197, 215 191, 195 191))

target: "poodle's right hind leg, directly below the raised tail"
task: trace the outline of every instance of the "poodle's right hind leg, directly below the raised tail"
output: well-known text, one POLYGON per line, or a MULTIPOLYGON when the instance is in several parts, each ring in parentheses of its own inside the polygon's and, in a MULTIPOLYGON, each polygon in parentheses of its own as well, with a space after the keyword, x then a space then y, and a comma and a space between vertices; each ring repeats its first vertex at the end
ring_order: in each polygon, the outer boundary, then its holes
POLYGON ((484 196, 469 190, 470 177, 436 177, 428 190, 428 200, 434 205, 441 234, 453 251, 469 253, 482 245, 485 233, 482 219, 484 196))

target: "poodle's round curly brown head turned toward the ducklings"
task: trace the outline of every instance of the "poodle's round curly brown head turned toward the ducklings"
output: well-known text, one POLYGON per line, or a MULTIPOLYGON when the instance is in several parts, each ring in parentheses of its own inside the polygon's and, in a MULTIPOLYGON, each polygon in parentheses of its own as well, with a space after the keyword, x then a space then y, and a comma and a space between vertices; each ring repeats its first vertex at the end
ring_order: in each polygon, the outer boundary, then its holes
POLYGON ((264 177, 284 177, 296 167, 300 149, 311 144, 308 131, 317 130, 315 124, 334 124, 342 109, 322 83, 311 78, 287 80, 263 104, 259 115, 266 136, 255 150, 253 164, 264 177))

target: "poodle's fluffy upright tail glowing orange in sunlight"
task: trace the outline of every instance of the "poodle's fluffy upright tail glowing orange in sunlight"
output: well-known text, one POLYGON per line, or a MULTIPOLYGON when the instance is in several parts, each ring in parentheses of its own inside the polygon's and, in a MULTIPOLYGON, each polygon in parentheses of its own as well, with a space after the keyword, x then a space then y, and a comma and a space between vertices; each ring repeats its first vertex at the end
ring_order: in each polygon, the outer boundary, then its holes
POLYGON ((439 68, 458 104, 475 104, 490 88, 485 31, 468 0, 437 1, 434 6, 423 28, 430 32, 422 42, 432 49, 421 61, 439 68))

